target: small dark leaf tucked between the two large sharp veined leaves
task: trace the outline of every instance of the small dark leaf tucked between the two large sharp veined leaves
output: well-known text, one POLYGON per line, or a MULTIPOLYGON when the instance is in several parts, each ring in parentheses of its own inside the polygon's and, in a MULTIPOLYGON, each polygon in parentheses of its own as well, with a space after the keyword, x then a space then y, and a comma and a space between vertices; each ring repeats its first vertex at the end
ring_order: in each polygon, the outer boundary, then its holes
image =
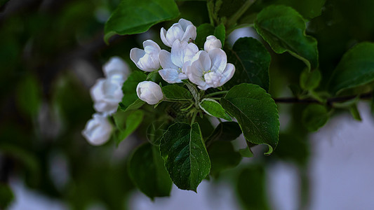
POLYGON ((208 142, 213 141, 232 141, 237 139, 241 134, 241 129, 236 122, 223 122, 217 125, 211 136, 206 140, 208 142))

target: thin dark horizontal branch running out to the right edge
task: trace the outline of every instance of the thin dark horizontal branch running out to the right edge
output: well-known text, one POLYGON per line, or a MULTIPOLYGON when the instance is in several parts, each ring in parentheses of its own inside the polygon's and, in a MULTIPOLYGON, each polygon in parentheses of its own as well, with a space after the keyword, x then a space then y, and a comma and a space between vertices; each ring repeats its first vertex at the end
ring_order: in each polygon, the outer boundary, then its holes
MULTIPOLYGON (((344 97, 334 97, 327 99, 327 104, 331 106, 335 102, 346 102, 350 99, 356 98, 357 95, 349 95, 344 97)), ((373 92, 367 92, 360 95, 360 99, 370 99, 373 97, 373 92)), ((316 99, 298 99, 298 98, 274 98, 276 103, 284 103, 284 104, 323 104, 316 99)))

